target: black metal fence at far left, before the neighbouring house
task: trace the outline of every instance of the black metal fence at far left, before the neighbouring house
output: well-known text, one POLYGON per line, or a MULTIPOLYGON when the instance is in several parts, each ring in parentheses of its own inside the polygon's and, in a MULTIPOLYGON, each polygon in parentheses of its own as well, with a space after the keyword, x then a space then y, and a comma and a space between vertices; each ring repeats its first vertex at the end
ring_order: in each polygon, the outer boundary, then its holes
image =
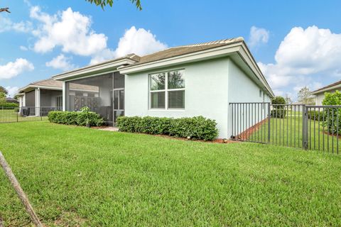
POLYGON ((50 111, 61 111, 61 107, 4 107, 0 106, 0 123, 23 121, 45 121, 50 111))

